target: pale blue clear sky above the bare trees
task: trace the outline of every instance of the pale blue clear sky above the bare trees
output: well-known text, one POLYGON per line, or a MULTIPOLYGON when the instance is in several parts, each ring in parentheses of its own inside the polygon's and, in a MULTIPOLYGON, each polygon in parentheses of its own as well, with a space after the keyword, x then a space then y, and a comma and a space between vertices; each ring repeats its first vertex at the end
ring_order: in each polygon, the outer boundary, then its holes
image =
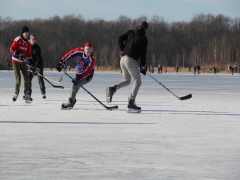
POLYGON ((111 21, 121 15, 131 19, 146 16, 147 20, 158 15, 176 22, 191 21, 200 13, 240 17, 239 7, 240 0, 1 0, 0 16, 23 20, 75 14, 86 20, 111 21))

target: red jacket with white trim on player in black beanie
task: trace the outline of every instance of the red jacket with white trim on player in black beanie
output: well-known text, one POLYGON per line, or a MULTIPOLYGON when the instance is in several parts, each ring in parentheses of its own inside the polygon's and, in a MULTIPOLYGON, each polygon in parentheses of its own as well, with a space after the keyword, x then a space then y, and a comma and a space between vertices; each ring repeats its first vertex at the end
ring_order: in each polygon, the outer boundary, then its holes
POLYGON ((18 36, 14 39, 10 52, 12 53, 12 62, 16 64, 24 64, 25 62, 19 59, 18 54, 23 53, 28 62, 32 62, 32 45, 22 36, 18 36))

